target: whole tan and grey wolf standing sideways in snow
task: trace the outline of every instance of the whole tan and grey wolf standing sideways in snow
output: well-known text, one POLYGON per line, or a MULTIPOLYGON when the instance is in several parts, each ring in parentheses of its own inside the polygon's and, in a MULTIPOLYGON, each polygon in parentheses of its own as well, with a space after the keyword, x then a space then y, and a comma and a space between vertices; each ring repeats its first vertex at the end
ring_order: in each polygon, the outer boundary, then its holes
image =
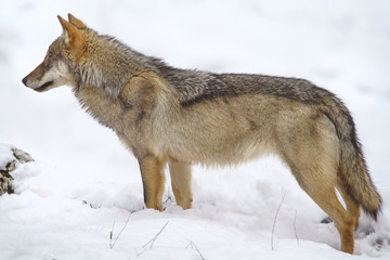
POLYGON ((341 250, 353 253, 361 208, 377 220, 381 197, 351 114, 335 94, 298 78, 176 68, 72 14, 57 17, 63 34, 22 81, 38 92, 72 87, 136 157, 147 208, 162 210, 167 164, 177 204, 188 209, 192 164, 234 165, 271 153, 332 218, 341 250))

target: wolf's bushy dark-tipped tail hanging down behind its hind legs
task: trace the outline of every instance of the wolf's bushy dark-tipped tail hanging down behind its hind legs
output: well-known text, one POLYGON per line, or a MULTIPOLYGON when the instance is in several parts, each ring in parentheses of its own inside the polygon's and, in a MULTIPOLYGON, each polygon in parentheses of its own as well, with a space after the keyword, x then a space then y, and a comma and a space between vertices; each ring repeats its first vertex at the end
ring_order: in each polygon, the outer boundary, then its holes
POLYGON ((369 177, 352 116, 334 94, 327 92, 325 95, 323 112, 335 125, 340 142, 338 177, 341 185, 366 213, 377 220, 381 208, 381 197, 369 177))

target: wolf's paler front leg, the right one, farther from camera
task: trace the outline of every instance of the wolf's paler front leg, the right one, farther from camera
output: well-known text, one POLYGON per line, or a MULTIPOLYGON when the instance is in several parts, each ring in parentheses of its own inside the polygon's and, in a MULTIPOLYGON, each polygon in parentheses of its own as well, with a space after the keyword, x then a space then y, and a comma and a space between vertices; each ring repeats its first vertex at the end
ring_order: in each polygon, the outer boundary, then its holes
POLYGON ((169 171, 177 204, 183 209, 191 208, 193 199, 191 191, 191 164, 170 159, 169 171))

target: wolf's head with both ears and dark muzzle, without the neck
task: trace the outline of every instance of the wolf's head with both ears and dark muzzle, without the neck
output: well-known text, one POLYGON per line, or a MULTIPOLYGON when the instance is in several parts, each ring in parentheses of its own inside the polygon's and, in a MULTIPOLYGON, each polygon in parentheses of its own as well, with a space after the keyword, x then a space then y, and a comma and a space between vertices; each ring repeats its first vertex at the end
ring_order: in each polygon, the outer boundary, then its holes
POLYGON ((74 87, 80 80, 75 69, 86 48, 82 30, 88 28, 72 14, 68 14, 69 22, 57 17, 64 29, 62 36, 49 47, 43 62, 22 80, 39 92, 63 84, 74 87))

